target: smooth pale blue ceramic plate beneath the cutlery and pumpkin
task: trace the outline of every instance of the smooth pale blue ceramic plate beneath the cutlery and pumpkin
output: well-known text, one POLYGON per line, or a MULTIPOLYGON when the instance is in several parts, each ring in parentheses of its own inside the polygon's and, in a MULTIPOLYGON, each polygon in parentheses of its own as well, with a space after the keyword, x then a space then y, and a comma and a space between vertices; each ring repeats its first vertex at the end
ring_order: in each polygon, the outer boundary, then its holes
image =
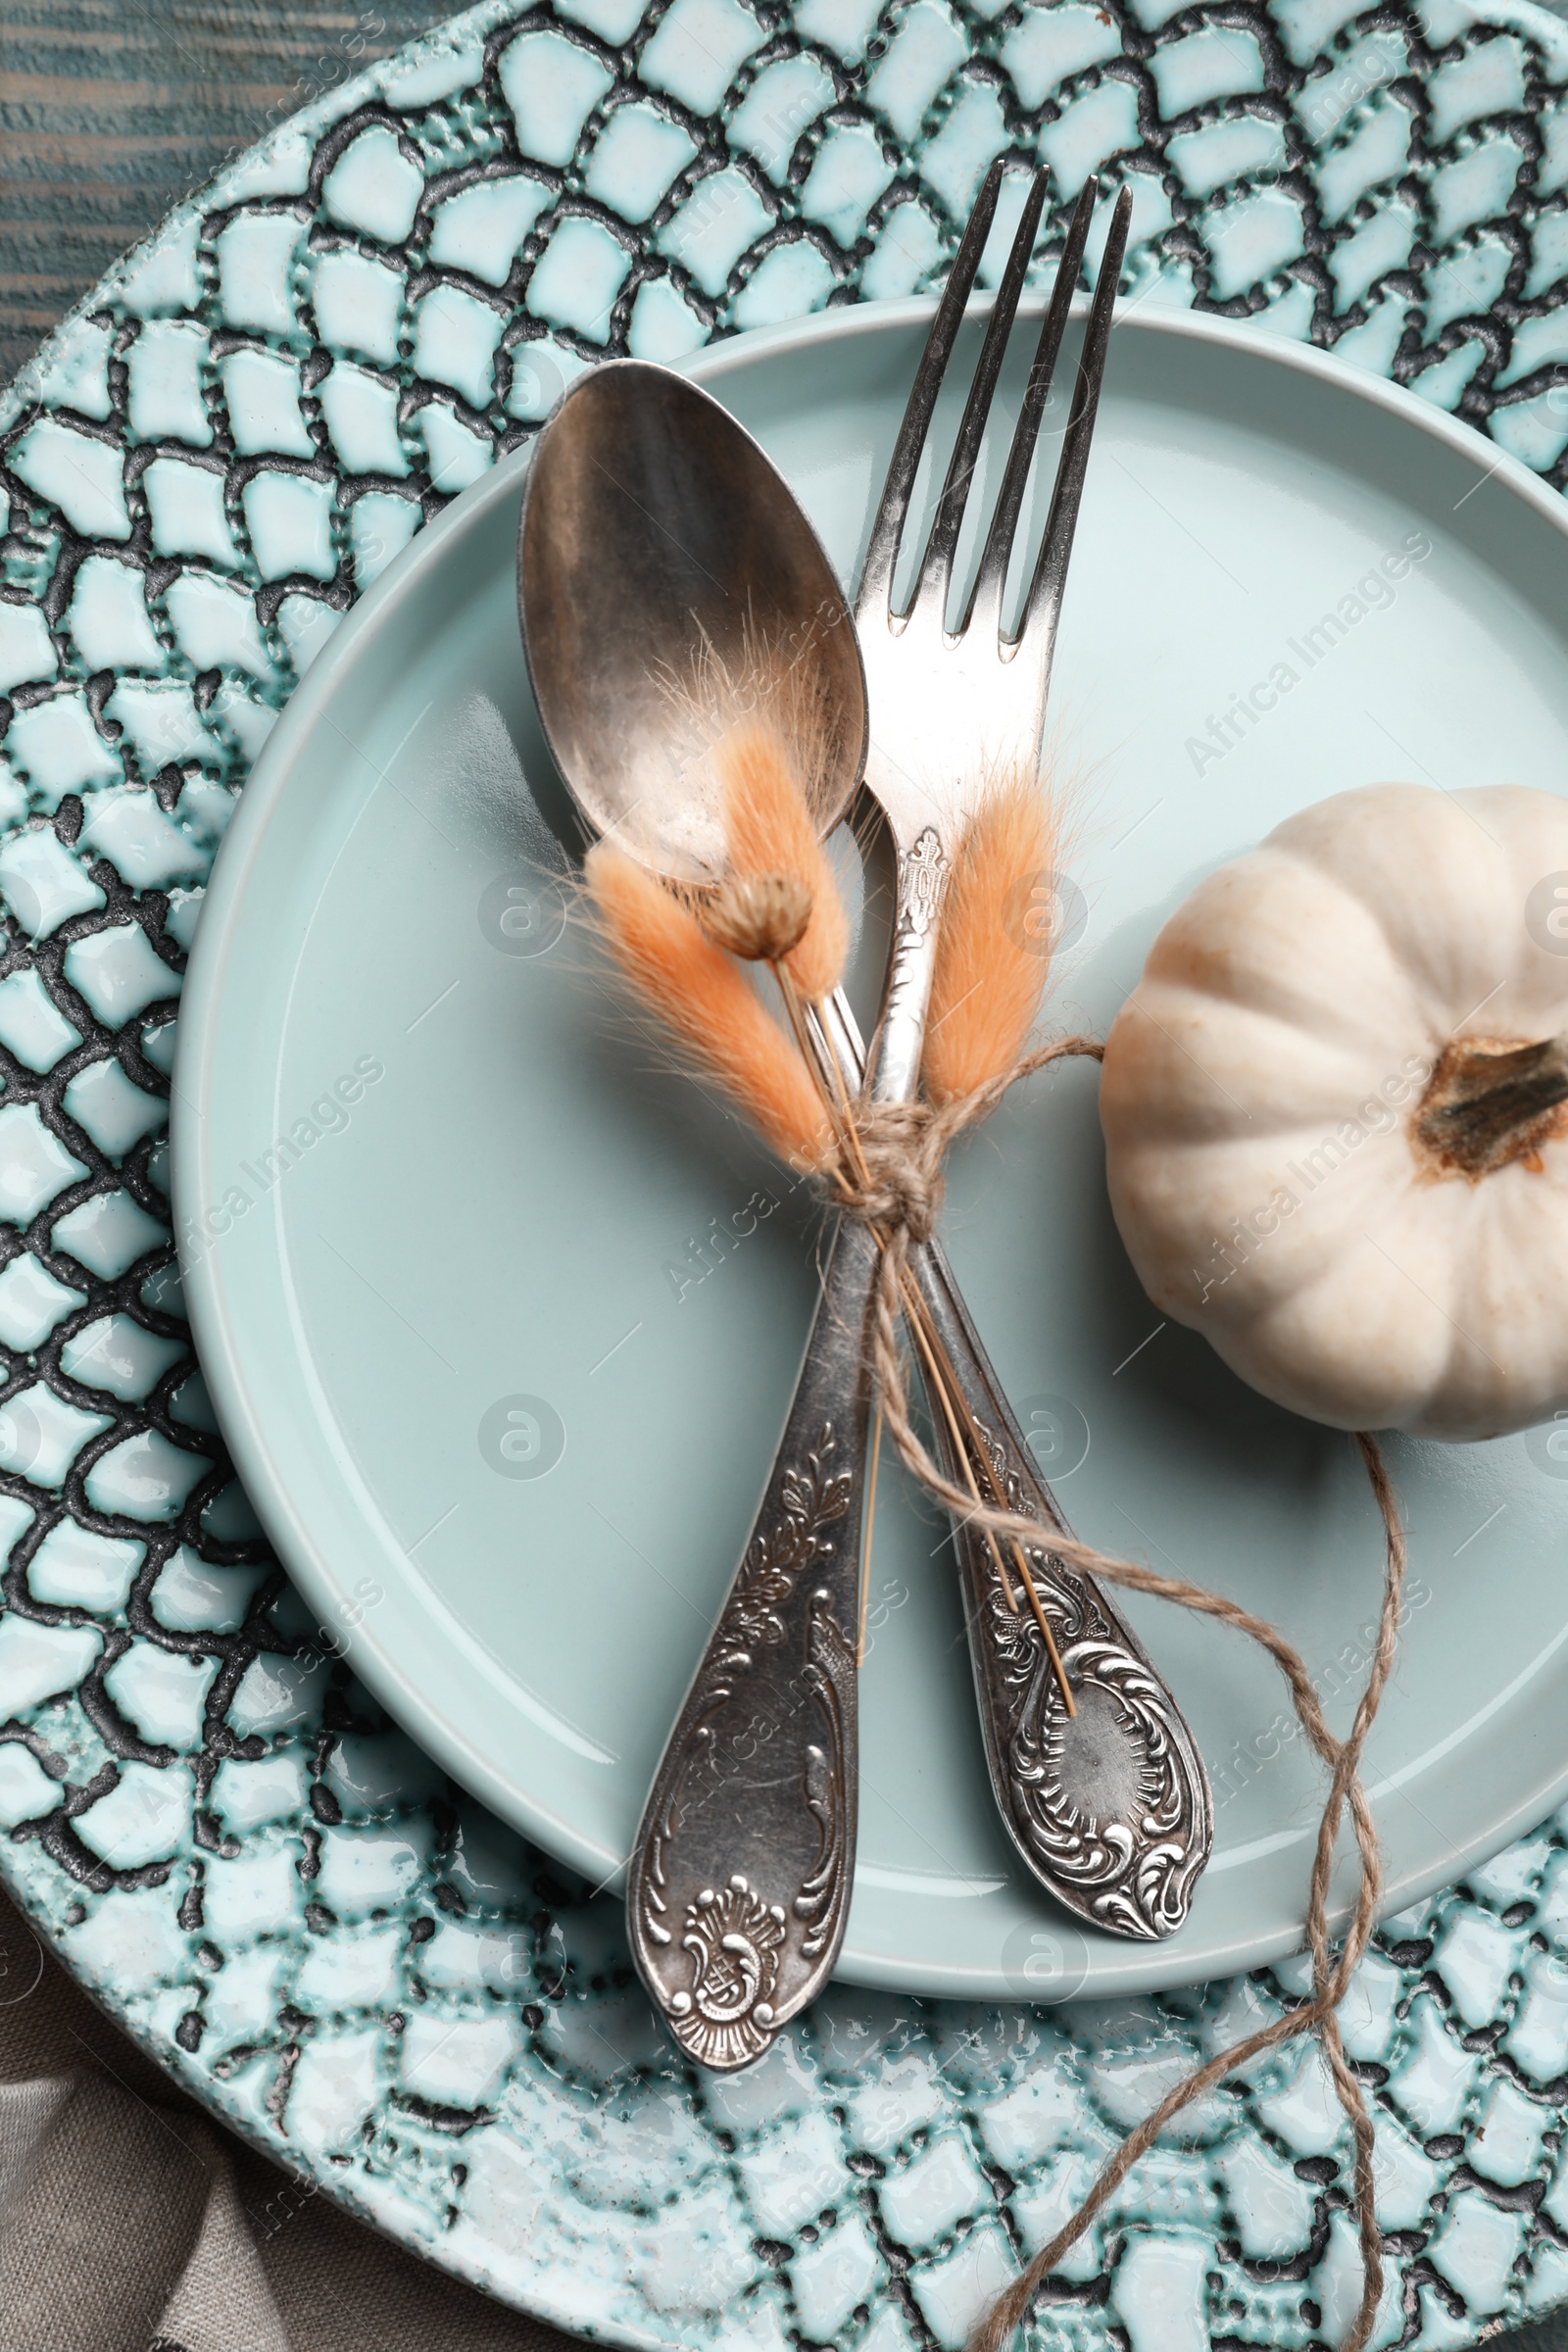
MULTIPOLYGON (((926 318, 832 313, 693 365, 846 576, 926 318)), ((520 482, 498 468, 388 572, 256 767, 186 988, 176 1209, 219 1418, 322 1623, 458 1780, 614 1882, 783 1418, 816 1211, 651 1068, 562 934, 520 482)), ((1133 308, 1056 668, 1077 807, 1056 1018, 1103 1033, 1194 880, 1324 793, 1561 788, 1566 522, 1387 383, 1133 308), (1225 748, 1215 722, 1269 680, 1272 713, 1225 748)), ((865 1011, 875 861, 867 882, 865 1011)), ((1380 1581, 1366 1479, 1347 1439, 1159 1324, 1105 1204, 1086 1065, 957 1152, 945 1237, 1079 1531, 1281 1623, 1347 1717, 1380 1581)), ((1392 1465, 1413 1611, 1371 1773, 1399 1907, 1568 1788, 1568 1484, 1528 1437, 1394 1442, 1392 1465)), ((1100 1992, 1293 1950, 1321 1804, 1260 1653, 1133 1616, 1208 1759, 1218 1839, 1178 1938, 1091 1938, 1100 1992)), ((1051 1910, 992 1813, 940 1526, 898 1477, 872 1625, 844 1973, 1030 1990, 1051 1910)))

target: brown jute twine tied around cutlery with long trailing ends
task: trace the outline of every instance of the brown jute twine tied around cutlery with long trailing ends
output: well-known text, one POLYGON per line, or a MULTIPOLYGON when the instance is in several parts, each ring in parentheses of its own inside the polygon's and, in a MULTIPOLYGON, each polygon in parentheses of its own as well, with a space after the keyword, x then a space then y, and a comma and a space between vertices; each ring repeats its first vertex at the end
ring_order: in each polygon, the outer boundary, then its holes
MULTIPOLYGON (((1093 1037, 1060 1037, 1039 1047, 1034 1054, 1025 1054, 1023 1061, 990 1080, 990 1084, 978 1087, 973 1094, 943 1108, 931 1108, 926 1103, 872 1105, 860 1101, 853 1112, 853 1124, 865 1176, 858 1183, 849 1176, 839 1178, 839 1204, 844 1214, 865 1218, 865 1223, 875 1228, 882 1244, 872 1305, 872 1367, 879 1388, 882 1416, 898 1449, 898 1458, 929 1494, 933 1494, 947 1505, 950 1512, 971 1526, 990 1529, 994 1536, 1016 1538, 1025 1545, 1034 1545, 1037 1550, 1046 1538, 1046 1529, 1041 1529, 1039 1519, 976 1503, 973 1494, 945 1477, 922 1442, 914 1423, 910 1421, 905 1359, 898 1345, 898 1312, 907 1282, 910 1249, 926 1242, 936 1225, 936 1211, 943 1200, 943 1157, 947 1145, 964 1134, 964 1129, 990 1117, 997 1103, 1001 1103, 1009 1089, 1023 1077, 1030 1077, 1034 1070, 1044 1070, 1048 1063, 1063 1061, 1070 1054, 1088 1054, 1095 1061, 1103 1061, 1105 1047, 1093 1037)), ((1378 2305, 1382 2300, 1382 2234, 1378 2230, 1378 2213, 1373 2204, 1373 2122, 1366 2112, 1366 2100, 1361 2098, 1361 2084, 1352 2074, 1349 2060, 1345 2058, 1338 2006, 1345 1999, 1349 1978, 1354 1976, 1361 1955, 1366 1952, 1378 1919, 1378 1903, 1382 1898, 1382 1860, 1378 1853, 1373 1809, 1361 1783, 1361 1752, 1394 1668, 1394 1642, 1399 1632, 1406 1573, 1406 1543, 1399 1524, 1399 1503, 1375 1437, 1359 1430, 1354 1444, 1366 1463, 1366 1475, 1371 1479, 1378 1510, 1382 1512, 1387 1571, 1382 1581, 1382 1609, 1378 1616, 1373 1663, 1356 1705, 1356 1717, 1342 1740, 1338 1740, 1324 1722, 1324 1710, 1300 1651, 1265 1618, 1251 1616, 1251 1611, 1237 1606, 1237 1602, 1229 1602, 1218 1592, 1208 1592, 1204 1585, 1187 1583, 1185 1576, 1157 1576, 1152 1569, 1143 1569, 1133 1559, 1098 1552, 1093 1545, 1079 1543, 1074 1536, 1058 1531, 1048 1534, 1046 1548, 1051 1557, 1067 1562, 1067 1566, 1086 1569, 1110 1585, 1124 1585, 1131 1592, 1152 1592, 1157 1599, 1175 1602, 1178 1609, 1197 1609, 1204 1616, 1218 1618, 1222 1625, 1232 1625, 1237 1632, 1258 1642, 1284 1675, 1300 1726, 1312 1750, 1328 1769, 1328 1799, 1324 1804, 1324 1818, 1319 1820, 1307 1893, 1312 1999, 1286 2011, 1260 2032, 1232 2044, 1227 2051, 1220 2051, 1206 2065, 1187 2074, 1187 2079, 1168 2091, 1166 2098, 1161 2098, 1154 2112, 1147 2114, 1143 2124, 1126 2136, 1121 2147, 1117 2147, 1117 2152, 1100 2166, 1093 2187, 1072 2220, 1056 2232, 1048 2246, 1041 2246, 1027 2270, 1023 2270, 1006 2293, 997 2298, 971 2336, 969 2352, 1004 2352, 1013 2328, 1023 2326, 1030 2317, 1034 2296, 1058 2267, 1060 2258, 1110 2204, 1138 2157, 1154 2145, 1173 2117, 1178 2117, 1194 2100, 1204 2098, 1204 2093, 1211 2091, 1225 2074, 1248 2065, 1248 2060, 1262 2056, 1262 2051, 1295 2042, 1300 2034, 1316 2034, 1321 2044, 1324 2060, 1338 2100, 1349 2119, 1356 2150, 1354 2176, 1363 2291, 1361 2310, 1342 2340, 1342 2352, 1361 2352, 1373 2333, 1373 2326, 1378 2324, 1378 2305), (1333 1872, 1333 1849, 1347 1809, 1361 1865, 1361 1884, 1356 1889, 1349 1929, 1345 1931, 1345 1940, 1335 1955, 1328 1940, 1328 1886, 1333 1872)))

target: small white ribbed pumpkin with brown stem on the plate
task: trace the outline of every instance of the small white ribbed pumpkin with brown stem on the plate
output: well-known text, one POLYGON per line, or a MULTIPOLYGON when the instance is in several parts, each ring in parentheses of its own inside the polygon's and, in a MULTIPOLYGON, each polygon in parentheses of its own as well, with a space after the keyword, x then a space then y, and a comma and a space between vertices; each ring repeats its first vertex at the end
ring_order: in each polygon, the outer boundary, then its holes
POLYGON ((1110 1197, 1150 1298, 1333 1428, 1552 1418, 1563 1033, 1568 802, 1385 783, 1288 818, 1178 908, 1110 1030, 1110 1197))

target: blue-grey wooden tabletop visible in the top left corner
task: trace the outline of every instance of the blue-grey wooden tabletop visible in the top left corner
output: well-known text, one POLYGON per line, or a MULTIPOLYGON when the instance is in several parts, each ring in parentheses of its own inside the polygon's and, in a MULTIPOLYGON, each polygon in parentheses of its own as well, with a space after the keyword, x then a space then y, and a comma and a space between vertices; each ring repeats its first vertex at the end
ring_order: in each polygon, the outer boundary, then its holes
POLYGON ((5 0, 0 381, 219 165, 447 14, 430 0, 5 0))

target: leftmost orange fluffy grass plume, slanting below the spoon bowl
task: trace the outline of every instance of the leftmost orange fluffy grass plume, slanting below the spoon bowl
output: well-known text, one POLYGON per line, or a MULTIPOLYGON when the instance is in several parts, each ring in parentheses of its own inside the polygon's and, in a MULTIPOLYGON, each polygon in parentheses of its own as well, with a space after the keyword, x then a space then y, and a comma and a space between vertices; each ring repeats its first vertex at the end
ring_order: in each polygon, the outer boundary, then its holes
POLYGON ((823 1167, 832 1155, 823 1098, 741 967, 712 946, 684 898, 614 842, 597 842, 583 870, 637 1004, 724 1087, 780 1160, 823 1167))

